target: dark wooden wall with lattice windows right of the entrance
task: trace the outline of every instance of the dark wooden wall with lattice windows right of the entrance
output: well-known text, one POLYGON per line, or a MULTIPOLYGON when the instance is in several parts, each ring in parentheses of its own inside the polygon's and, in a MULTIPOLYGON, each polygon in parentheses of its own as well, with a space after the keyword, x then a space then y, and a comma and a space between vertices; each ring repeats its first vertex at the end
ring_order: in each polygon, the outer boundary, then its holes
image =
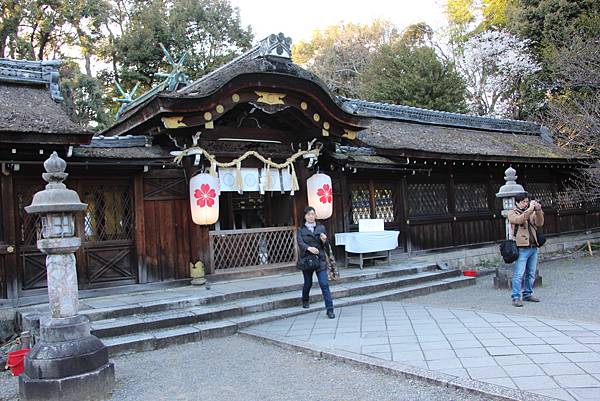
MULTIPOLYGON (((392 188, 394 217, 385 225, 386 229, 400 231, 400 247, 406 251, 499 241, 505 235, 504 219, 495 193, 504 184, 505 169, 506 166, 447 167, 414 175, 410 171, 362 170, 357 174, 334 171, 334 232, 358 229, 353 222, 353 202, 363 210, 365 202, 370 206, 370 213, 367 210, 367 215, 361 218, 380 217, 376 216, 376 208, 380 203, 385 204, 385 200, 375 199, 374 188, 392 188), (361 200, 359 196, 357 200, 353 191, 368 193, 370 199, 361 200)), ((550 236, 600 228, 600 204, 569 207, 557 203, 568 174, 567 170, 557 169, 548 174, 545 169, 534 168, 519 174, 518 182, 542 201, 546 215, 544 230, 550 236)))

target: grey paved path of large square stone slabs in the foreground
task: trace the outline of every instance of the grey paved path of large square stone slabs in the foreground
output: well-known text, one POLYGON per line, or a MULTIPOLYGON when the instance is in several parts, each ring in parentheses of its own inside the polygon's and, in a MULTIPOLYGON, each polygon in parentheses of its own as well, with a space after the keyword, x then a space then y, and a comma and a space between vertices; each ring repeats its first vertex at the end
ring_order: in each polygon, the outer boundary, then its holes
POLYGON ((600 324, 376 302, 255 326, 300 340, 561 400, 600 400, 600 324))

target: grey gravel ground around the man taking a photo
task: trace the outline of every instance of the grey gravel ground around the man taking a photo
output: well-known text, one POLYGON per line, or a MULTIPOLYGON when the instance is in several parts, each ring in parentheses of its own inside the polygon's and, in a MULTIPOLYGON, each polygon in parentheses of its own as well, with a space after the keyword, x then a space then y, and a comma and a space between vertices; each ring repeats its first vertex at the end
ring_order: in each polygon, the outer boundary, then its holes
POLYGON ((542 287, 534 292, 540 303, 510 304, 510 290, 493 287, 494 275, 477 279, 474 286, 402 300, 431 306, 477 309, 554 319, 600 322, 600 257, 585 256, 540 263, 542 287))

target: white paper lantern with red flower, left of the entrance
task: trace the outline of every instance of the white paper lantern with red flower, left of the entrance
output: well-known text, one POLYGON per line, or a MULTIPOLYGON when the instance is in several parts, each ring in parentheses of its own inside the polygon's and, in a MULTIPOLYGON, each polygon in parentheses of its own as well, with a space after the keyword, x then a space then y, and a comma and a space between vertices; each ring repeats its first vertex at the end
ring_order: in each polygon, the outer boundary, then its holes
POLYGON ((190 207, 196 224, 209 225, 219 220, 219 179, 198 174, 190 180, 190 207))

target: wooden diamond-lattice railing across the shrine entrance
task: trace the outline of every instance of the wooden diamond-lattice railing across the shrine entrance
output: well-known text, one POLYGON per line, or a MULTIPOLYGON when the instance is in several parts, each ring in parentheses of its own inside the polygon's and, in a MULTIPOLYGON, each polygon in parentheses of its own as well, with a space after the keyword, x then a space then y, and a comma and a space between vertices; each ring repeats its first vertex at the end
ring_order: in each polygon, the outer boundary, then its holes
POLYGON ((295 264, 295 227, 253 228, 209 232, 210 272, 247 270, 295 264))

